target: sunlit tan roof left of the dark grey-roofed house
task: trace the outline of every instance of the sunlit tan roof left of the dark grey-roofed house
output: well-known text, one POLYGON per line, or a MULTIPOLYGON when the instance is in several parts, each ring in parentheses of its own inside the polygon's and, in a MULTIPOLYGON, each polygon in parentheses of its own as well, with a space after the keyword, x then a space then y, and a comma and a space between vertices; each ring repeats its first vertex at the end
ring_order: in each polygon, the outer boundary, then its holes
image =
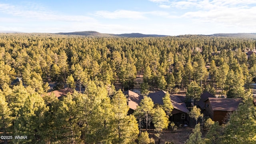
POLYGON ((143 96, 140 96, 136 92, 127 90, 124 92, 124 95, 128 97, 128 106, 132 110, 136 110, 137 106, 140 104, 140 101, 143 99, 143 96))

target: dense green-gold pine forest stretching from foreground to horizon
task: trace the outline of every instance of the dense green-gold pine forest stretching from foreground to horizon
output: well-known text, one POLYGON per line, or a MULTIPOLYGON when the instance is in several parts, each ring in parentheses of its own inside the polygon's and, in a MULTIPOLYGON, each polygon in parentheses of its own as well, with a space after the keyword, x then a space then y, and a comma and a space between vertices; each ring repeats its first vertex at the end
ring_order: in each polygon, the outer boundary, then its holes
MULTIPOLYGON (((1 135, 28 136, 28 140, 5 141, 17 144, 138 142, 139 117, 127 115, 122 90, 132 90, 136 75, 143 74, 143 82, 137 85, 144 96, 161 89, 185 91, 190 100, 198 99, 203 90, 243 98, 245 104, 230 116, 230 122, 213 124, 203 141, 254 143, 256 111, 248 95, 256 78, 256 55, 246 52, 255 46, 255 39, 198 35, 0 34, 1 135), (16 78, 22 82, 14 86, 11 82, 16 78), (85 91, 59 100, 47 94, 50 82, 58 88, 84 86, 85 91)), ((170 114, 164 106, 148 112, 159 136, 166 126, 160 127, 157 118, 166 119, 164 112, 170 114)))

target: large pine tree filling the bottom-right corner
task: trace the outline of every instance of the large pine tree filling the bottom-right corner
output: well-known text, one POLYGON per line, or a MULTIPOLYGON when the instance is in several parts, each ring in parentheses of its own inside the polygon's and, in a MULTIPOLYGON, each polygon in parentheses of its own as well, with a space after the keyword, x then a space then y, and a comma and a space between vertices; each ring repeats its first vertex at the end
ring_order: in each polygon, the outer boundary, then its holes
POLYGON ((256 107, 252 103, 251 95, 244 98, 244 104, 241 103, 230 116, 222 143, 256 143, 256 107))

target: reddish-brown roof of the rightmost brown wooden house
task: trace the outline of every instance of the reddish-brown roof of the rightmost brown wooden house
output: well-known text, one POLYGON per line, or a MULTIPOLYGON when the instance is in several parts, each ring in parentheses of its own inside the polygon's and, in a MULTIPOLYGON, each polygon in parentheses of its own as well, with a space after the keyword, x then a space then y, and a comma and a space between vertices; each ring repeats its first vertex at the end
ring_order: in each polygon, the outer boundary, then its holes
MULTIPOLYGON (((241 98, 208 98, 212 110, 216 111, 235 111, 242 103, 241 98)), ((205 100, 205 102, 207 101, 205 100)))

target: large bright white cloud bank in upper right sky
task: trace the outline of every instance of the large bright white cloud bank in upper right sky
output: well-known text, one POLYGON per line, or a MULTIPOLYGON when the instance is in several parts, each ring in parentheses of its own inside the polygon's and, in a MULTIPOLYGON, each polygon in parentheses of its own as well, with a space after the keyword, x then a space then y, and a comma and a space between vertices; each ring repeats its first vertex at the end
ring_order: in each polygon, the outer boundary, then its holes
POLYGON ((256 0, 181 0, 172 7, 184 9, 181 18, 194 23, 252 29, 256 23, 256 0))

